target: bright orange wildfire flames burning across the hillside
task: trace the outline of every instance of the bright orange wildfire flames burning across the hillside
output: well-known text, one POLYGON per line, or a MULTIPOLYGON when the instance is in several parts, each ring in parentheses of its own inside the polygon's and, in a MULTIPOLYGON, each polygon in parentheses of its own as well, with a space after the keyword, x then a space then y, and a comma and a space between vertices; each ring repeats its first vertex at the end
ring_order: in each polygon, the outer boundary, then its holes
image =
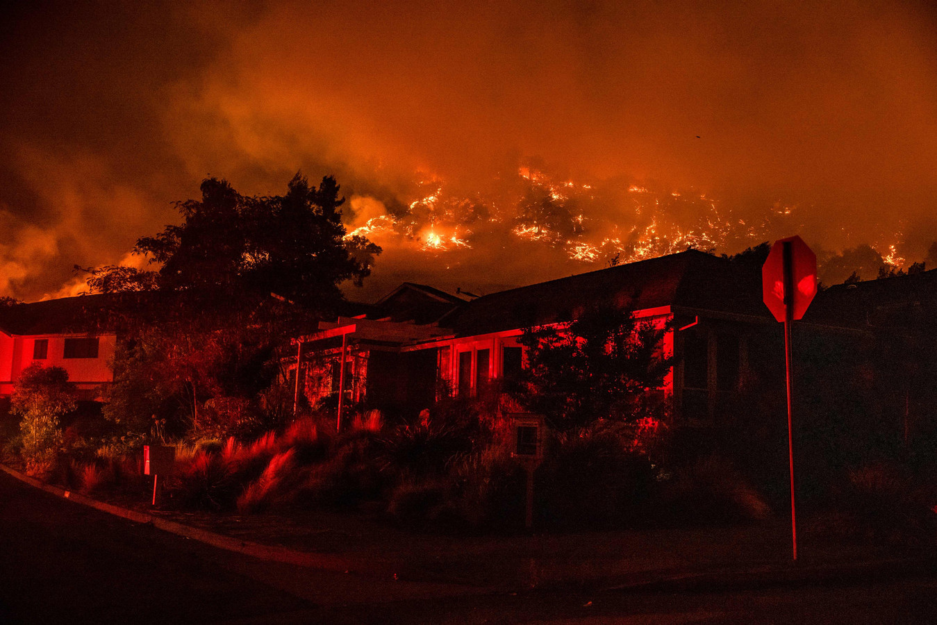
MULTIPOLYGON (((688 248, 731 252, 798 229, 797 207, 790 203, 778 201, 766 206, 761 216, 743 218, 711 193, 583 184, 568 177, 554 182, 530 167, 517 171, 515 186, 509 186, 513 191, 490 197, 460 195, 438 176, 424 175, 415 188, 422 193, 406 199, 407 214, 372 217, 349 236, 396 237, 400 246, 448 254, 471 249, 473 237, 500 231, 594 265, 646 260, 688 248)), ((897 236, 900 243, 900 233, 897 236)), ((889 264, 904 263, 897 245, 878 247, 887 250, 883 258, 889 264)))

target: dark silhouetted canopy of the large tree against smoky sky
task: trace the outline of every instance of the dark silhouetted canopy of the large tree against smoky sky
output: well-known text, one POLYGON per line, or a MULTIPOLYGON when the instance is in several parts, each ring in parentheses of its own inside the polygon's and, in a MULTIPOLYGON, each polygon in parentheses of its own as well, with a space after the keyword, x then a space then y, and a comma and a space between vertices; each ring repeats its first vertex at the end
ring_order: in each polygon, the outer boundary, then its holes
POLYGON ((318 187, 297 173, 286 194, 246 197, 225 181, 201 183, 201 199, 176 203, 181 225, 137 241, 134 253, 157 271, 108 266, 90 270, 92 290, 162 290, 221 306, 256 304, 272 293, 307 305, 341 299, 338 285, 361 284, 379 246, 347 236, 344 198, 331 176, 318 187))

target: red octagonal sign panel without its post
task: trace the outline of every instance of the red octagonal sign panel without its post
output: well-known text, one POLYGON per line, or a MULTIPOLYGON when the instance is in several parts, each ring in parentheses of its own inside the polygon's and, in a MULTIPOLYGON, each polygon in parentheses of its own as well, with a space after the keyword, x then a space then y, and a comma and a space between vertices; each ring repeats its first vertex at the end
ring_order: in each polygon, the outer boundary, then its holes
POLYGON ((785 308, 791 305, 792 319, 800 319, 817 293, 817 257, 799 236, 779 239, 771 246, 762 267, 765 304, 774 318, 783 321, 785 308), (789 264, 788 264, 789 263, 789 264), (790 271, 791 290, 785 298, 785 264, 790 271))

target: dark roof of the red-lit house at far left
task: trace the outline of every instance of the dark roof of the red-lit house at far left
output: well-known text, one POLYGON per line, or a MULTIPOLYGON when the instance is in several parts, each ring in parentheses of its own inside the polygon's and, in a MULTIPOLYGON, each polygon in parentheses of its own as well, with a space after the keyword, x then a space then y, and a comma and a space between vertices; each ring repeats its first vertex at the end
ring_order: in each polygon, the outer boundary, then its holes
POLYGON ((79 295, 0 307, 0 331, 7 335, 57 335, 107 331, 117 300, 112 295, 79 295))

